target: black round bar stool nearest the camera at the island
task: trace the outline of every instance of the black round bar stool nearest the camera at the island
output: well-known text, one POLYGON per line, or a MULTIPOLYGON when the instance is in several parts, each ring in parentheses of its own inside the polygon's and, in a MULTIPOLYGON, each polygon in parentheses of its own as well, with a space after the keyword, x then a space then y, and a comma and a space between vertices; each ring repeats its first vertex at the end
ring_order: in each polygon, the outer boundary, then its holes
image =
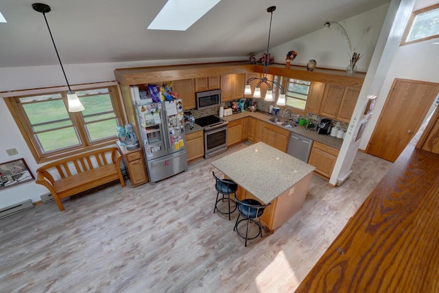
POLYGON ((259 235, 261 235, 262 237, 261 216, 263 214, 264 209, 268 207, 270 203, 261 204, 261 202, 254 200, 252 198, 246 198, 245 200, 238 200, 236 198, 236 194, 235 194, 235 202, 238 207, 238 218, 236 219, 236 223, 235 223, 235 227, 233 228, 233 231, 236 231, 239 237, 246 239, 246 244, 244 244, 244 246, 247 247, 247 240, 254 239, 259 235), (239 217, 241 216, 243 217, 243 219, 239 220, 239 217), (242 221, 247 221, 246 236, 241 235, 241 233, 239 233, 239 230, 237 229, 238 224, 242 221), (250 222, 257 224, 259 231, 256 236, 249 238, 248 228, 250 227, 250 222))

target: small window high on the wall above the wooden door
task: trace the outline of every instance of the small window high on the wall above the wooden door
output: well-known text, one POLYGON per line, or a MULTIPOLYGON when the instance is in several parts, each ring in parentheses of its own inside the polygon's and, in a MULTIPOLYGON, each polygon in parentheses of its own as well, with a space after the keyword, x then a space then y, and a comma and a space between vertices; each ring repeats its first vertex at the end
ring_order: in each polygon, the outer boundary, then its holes
POLYGON ((439 37, 439 4, 413 12, 401 45, 439 37))

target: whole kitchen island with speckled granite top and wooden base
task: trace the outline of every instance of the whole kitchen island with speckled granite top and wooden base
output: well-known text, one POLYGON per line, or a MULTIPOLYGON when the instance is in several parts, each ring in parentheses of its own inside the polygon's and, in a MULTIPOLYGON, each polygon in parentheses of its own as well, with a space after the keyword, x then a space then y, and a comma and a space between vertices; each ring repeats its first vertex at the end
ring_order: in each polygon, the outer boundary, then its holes
POLYGON ((315 167, 259 142, 212 162, 239 185, 237 197, 270 203, 261 221, 271 232, 302 207, 315 167))

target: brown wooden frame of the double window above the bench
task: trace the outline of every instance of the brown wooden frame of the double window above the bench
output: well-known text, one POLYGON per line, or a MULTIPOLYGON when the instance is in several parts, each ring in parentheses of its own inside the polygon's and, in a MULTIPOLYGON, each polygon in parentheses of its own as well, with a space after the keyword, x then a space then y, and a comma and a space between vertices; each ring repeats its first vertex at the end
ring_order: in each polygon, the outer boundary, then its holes
MULTIPOLYGON (((115 113, 115 119, 119 125, 126 124, 126 117, 123 114, 123 107, 121 104, 121 99, 119 95, 119 88, 116 82, 102 82, 95 84, 80 84, 77 86, 71 86, 73 91, 89 91, 93 89, 108 89, 108 95, 110 96, 110 102, 112 104, 113 111, 115 113)), ((5 100, 16 125, 19 127, 29 150, 32 152, 36 163, 45 163, 48 161, 54 161, 56 159, 61 159, 66 156, 72 156, 74 154, 80 154, 82 152, 88 152, 90 150, 95 150, 98 148, 103 148, 108 145, 114 145, 117 141, 117 130, 115 129, 115 136, 108 137, 106 139, 99 139, 92 141, 91 137, 88 137, 86 132, 86 124, 84 123, 84 117, 82 112, 71 113, 67 112, 72 123, 75 132, 78 135, 79 145, 73 145, 68 148, 58 149, 49 152, 43 152, 43 148, 38 143, 38 139, 34 137, 35 131, 32 129, 32 124, 30 124, 29 118, 25 114, 23 104, 20 102, 20 98, 36 96, 36 95, 50 95, 57 94, 61 95, 61 99, 66 105, 67 109, 67 86, 58 86, 52 88, 44 89, 32 89, 32 90, 22 90, 22 91, 12 91, 1 93, 1 96, 5 100)), ((85 96, 86 97, 86 96, 85 96)))

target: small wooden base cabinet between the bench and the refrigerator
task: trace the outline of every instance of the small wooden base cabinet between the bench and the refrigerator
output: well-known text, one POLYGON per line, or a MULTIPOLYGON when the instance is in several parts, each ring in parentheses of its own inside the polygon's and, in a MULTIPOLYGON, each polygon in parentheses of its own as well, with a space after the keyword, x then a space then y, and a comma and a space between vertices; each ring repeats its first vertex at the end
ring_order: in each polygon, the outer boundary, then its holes
POLYGON ((123 145, 119 145, 119 150, 123 154, 123 164, 128 168, 128 176, 130 176, 132 187, 147 183, 148 177, 142 150, 140 148, 127 150, 123 145))

